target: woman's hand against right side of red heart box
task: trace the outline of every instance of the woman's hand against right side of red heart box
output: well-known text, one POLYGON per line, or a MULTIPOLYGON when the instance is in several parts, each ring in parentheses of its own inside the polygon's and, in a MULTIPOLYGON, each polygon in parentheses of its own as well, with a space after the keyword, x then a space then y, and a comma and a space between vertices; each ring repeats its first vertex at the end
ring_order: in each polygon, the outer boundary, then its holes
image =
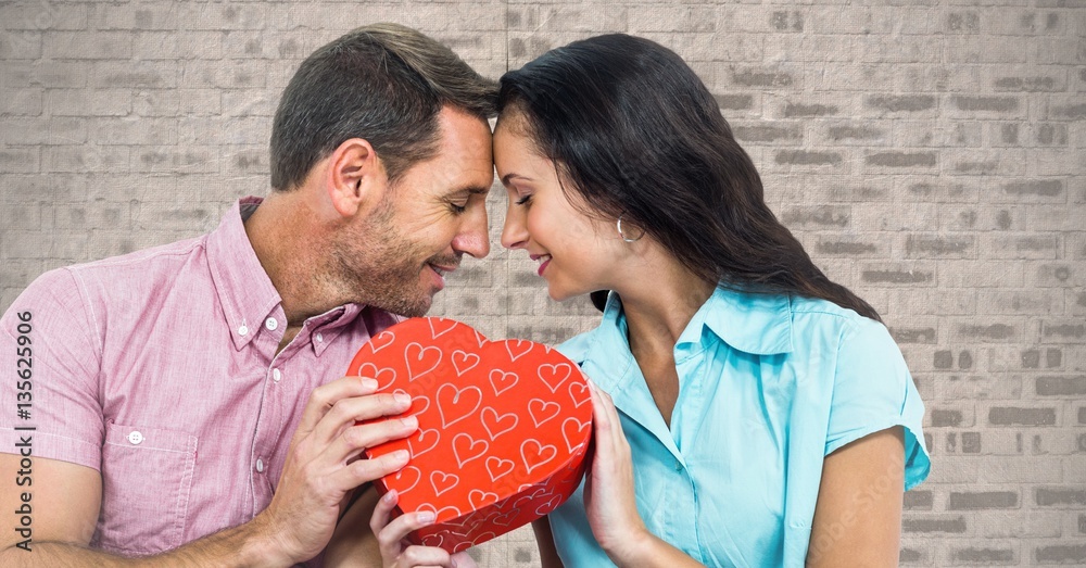
MULTIPOLYGON (((611 559, 649 538, 637 513, 630 443, 610 395, 589 382, 595 451, 584 483, 584 508, 596 542, 611 559)), ((621 564, 616 561, 616 564, 621 564)))

